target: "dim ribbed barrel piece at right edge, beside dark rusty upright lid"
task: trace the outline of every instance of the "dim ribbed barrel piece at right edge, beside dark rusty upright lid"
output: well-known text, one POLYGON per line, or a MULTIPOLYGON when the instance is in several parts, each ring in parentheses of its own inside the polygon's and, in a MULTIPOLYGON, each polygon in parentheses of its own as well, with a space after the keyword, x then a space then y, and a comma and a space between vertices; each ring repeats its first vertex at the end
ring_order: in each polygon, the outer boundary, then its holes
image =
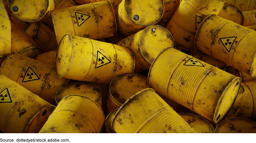
POLYGON ((243 16, 244 16, 243 26, 256 25, 256 10, 244 11, 243 16))

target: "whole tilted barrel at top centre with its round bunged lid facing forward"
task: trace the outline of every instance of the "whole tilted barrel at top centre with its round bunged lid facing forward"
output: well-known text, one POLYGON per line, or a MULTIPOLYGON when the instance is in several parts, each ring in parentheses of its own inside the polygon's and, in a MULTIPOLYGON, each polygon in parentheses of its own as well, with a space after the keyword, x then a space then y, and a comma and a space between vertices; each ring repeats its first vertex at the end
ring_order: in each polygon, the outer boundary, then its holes
POLYGON ((122 0, 115 10, 117 32, 126 37, 156 24, 163 16, 163 0, 122 0))

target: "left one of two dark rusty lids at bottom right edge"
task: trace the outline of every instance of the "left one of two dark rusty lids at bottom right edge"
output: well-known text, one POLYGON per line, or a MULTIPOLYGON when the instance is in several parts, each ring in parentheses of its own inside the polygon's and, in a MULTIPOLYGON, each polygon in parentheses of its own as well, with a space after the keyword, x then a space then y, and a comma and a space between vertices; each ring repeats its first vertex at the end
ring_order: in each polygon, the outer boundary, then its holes
POLYGON ((179 113, 179 115, 198 133, 215 133, 213 126, 202 116, 190 113, 179 113))

